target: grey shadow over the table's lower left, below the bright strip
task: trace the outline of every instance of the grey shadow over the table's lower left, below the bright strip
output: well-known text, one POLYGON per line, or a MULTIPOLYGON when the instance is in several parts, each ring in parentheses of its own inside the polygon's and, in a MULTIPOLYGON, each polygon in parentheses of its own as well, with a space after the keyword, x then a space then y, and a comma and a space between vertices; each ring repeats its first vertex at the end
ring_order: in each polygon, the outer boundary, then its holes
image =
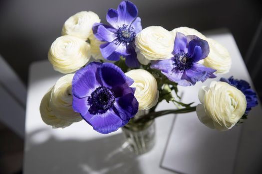
POLYGON ((42 143, 31 141, 34 134, 45 131, 48 130, 37 130, 27 138, 30 142, 26 146, 26 174, 142 173, 137 157, 128 149, 122 148, 123 134, 86 141, 58 140, 54 137, 49 137, 42 143), (52 164, 54 161, 55 164, 52 164))

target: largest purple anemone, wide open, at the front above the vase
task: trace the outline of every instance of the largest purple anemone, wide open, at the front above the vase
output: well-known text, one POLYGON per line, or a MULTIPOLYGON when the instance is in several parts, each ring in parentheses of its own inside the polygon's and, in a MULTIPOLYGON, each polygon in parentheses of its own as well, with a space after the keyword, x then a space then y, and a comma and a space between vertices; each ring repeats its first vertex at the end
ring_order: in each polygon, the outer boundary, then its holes
POLYGON ((124 126, 138 111, 134 81, 111 63, 91 62, 72 80, 72 107, 102 134, 124 126))

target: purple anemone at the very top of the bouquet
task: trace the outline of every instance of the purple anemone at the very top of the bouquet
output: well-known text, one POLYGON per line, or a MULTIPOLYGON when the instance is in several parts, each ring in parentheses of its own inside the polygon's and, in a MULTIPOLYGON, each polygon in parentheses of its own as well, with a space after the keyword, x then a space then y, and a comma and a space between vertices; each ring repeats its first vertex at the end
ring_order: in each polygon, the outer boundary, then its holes
POLYGON ((110 8, 106 20, 110 25, 95 23, 93 33, 95 37, 106 43, 100 45, 102 56, 111 61, 118 61, 120 56, 126 58, 126 65, 130 68, 139 67, 135 52, 134 40, 136 34, 142 30, 141 18, 137 17, 138 10, 130 1, 122 1, 117 10, 110 8))

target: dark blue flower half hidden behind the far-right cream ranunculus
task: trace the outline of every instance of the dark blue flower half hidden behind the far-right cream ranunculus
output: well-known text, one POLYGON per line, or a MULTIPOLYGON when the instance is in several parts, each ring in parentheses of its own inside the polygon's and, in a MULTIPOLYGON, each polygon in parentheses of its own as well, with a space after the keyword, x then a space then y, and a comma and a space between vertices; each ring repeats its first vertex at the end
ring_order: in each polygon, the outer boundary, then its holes
POLYGON ((248 114, 249 111, 251 111, 252 107, 258 105, 258 96, 256 92, 253 89, 251 89, 247 81, 234 79, 233 76, 231 76, 229 79, 221 78, 220 81, 226 82, 234 87, 237 87, 244 93, 247 100, 247 109, 245 114, 248 114))

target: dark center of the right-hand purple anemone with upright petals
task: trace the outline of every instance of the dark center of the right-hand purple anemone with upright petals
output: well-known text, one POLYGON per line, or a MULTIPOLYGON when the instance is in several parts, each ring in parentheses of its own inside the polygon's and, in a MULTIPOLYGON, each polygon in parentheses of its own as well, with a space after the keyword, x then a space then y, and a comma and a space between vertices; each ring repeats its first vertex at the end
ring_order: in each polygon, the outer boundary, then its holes
POLYGON ((193 59, 184 52, 176 54, 173 58, 173 65, 175 65, 180 71, 188 70, 193 66, 193 59))

